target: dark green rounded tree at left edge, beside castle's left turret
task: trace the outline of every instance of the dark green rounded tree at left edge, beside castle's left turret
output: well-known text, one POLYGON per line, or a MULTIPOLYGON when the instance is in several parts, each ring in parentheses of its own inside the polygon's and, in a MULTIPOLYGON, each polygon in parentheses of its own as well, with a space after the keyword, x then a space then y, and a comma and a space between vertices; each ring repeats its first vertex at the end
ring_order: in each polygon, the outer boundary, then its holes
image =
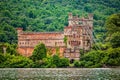
POLYGON ((0 24, 0 42, 8 42, 10 44, 17 42, 17 32, 7 23, 0 24))

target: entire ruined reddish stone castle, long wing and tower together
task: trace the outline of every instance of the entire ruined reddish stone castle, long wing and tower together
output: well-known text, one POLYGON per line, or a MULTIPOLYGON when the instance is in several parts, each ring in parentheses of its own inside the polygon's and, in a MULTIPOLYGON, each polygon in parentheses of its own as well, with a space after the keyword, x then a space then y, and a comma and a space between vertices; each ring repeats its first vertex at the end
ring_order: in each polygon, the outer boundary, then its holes
POLYGON ((79 60, 80 49, 90 50, 93 43, 93 15, 89 14, 87 18, 79 18, 70 13, 68 23, 63 32, 24 32, 22 28, 17 28, 19 53, 31 56, 34 47, 41 42, 53 54, 56 53, 57 47, 61 56, 79 60))

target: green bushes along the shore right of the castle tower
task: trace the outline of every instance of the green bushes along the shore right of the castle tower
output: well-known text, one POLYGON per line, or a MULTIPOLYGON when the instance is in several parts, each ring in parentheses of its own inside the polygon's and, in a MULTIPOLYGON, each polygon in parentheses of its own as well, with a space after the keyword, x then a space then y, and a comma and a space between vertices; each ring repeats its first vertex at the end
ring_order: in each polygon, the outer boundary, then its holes
POLYGON ((117 67, 120 66, 120 47, 107 50, 92 50, 74 62, 75 67, 117 67))

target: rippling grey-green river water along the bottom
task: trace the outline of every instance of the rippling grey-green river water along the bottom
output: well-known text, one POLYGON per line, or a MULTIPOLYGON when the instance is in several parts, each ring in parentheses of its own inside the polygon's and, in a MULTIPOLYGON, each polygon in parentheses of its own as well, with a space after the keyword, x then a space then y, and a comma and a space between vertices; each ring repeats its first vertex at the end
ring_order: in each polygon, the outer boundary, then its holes
POLYGON ((0 68, 0 80, 120 80, 120 68, 0 68))

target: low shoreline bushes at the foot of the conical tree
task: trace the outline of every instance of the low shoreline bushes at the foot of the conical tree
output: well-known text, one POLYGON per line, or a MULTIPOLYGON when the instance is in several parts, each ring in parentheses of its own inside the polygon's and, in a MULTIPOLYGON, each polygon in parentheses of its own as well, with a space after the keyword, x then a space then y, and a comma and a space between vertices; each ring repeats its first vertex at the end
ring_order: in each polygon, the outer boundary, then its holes
POLYGON ((60 68, 60 67, 68 67, 69 60, 67 58, 60 58, 58 55, 47 56, 42 60, 38 60, 34 62, 34 66, 36 68, 60 68))

